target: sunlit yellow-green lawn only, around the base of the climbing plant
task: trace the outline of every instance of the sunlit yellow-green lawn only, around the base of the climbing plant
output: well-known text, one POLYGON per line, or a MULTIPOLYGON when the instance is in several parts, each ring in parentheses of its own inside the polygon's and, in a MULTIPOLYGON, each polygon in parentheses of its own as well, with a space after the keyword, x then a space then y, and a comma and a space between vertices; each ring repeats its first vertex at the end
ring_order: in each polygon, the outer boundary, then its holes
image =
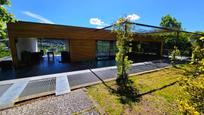
MULTIPOLYGON (((189 68, 185 65, 181 68, 189 68)), ((104 84, 98 84, 87 88, 91 98, 96 100, 102 109, 110 115, 120 114, 180 114, 177 107, 177 99, 182 96, 181 87, 175 83, 185 76, 185 71, 178 68, 163 69, 157 72, 131 76, 133 85, 140 91, 138 102, 131 105, 123 104, 120 96, 112 93, 104 84), (170 84, 170 85, 169 85, 170 84)), ((117 88, 115 81, 107 82, 113 89, 117 88)))

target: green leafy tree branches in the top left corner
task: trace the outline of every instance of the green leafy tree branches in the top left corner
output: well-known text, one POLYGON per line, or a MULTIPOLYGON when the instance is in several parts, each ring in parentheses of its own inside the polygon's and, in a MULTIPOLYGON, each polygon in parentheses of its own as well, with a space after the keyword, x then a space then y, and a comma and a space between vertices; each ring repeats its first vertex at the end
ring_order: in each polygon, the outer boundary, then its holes
POLYGON ((9 13, 4 6, 10 6, 10 1, 0 0, 0 38, 6 38, 6 23, 15 21, 13 14, 9 13))

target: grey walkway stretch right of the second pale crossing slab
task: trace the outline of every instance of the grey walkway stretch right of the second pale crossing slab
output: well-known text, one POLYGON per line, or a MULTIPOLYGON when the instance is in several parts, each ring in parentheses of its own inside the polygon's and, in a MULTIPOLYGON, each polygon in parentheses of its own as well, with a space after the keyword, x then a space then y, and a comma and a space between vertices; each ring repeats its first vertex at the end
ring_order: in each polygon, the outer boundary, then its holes
MULTIPOLYGON (((144 63, 136 63, 133 64, 132 67, 129 70, 129 74, 144 72, 144 71, 150 71, 154 69, 163 68, 166 66, 169 66, 170 64, 162 61, 152 61, 152 62, 144 62, 144 63)), ((84 86, 85 84, 93 84, 100 82, 101 80, 107 80, 107 79, 113 79, 117 76, 117 68, 114 67, 107 67, 107 68, 98 68, 98 69, 92 69, 92 71, 97 75, 95 76, 91 71, 85 71, 81 73, 76 73, 73 75, 68 75, 70 87, 80 87, 84 86)))

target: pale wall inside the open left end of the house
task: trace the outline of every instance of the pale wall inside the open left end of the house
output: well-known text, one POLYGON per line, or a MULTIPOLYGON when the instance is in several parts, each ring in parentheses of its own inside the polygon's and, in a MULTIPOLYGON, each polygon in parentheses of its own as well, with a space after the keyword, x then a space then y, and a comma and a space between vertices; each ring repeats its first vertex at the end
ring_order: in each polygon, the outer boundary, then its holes
POLYGON ((37 52, 37 38, 17 38, 16 49, 18 60, 21 60, 21 52, 23 51, 37 52))

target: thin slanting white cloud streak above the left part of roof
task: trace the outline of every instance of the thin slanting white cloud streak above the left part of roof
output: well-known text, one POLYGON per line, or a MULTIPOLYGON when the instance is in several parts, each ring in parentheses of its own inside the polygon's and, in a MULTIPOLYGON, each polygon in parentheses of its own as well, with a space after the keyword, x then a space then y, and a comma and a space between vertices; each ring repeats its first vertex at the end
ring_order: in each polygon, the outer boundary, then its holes
POLYGON ((46 19, 46 18, 44 18, 44 17, 42 17, 42 16, 40 16, 38 14, 34 14, 34 13, 30 12, 30 11, 23 11, 22 13, 29 16, 29 17, 32 17, 34 19, 39 20, 41 23, 54 24, 54 22, 52 22, 52 21, 50 21, 50 20, 48 20, 48 19, 46 19))

